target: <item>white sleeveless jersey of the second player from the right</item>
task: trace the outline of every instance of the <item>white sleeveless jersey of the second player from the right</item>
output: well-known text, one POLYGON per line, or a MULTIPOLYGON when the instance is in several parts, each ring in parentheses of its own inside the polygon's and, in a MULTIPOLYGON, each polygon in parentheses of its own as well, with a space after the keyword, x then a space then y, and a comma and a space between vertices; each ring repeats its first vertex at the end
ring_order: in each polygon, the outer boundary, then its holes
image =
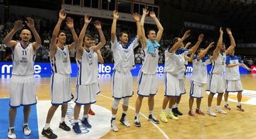
POLYGON ((226 66, 226 53, 219 53, 216 60, 213 60, 213 67, 210 71, 211 74, 223 74, 226 66))

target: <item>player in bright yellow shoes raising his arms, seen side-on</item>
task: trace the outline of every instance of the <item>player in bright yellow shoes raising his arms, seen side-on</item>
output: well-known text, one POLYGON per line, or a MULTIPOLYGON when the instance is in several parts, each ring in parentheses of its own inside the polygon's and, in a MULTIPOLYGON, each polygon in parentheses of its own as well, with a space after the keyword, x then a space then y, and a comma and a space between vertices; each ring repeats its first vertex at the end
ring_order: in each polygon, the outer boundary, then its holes
MULTIPOLYGON (((165 50, 165 65, 164 65, 164 100, 160 114, 160 120, 168 122, 167 117, 173 120, 178 120, 171 111, 175 97, 180 96, 181 89, 179 85, 178 74, 185 71, 184 63, 180 61, 178 54, 175 52, 181 47, 182 42, 190 36, 190 30, 186 31, 181 39, 176 38, 174 45, 165 50), (166 114, 166 106, 169 103, 168 114, 166 114)), ((184 73, 183 73, 184 74, 184 73)))

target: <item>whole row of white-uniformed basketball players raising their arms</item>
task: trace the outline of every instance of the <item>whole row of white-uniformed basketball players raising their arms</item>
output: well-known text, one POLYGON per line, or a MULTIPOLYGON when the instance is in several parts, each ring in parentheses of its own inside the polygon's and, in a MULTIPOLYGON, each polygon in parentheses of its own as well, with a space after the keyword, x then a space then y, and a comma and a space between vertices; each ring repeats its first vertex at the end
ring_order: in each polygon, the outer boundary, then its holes
MULTIPOLYGON (((113 11, 112 27, 111 27, 111 49, 114 58, 114 72, 112 73, 112 118, 109 119, 112 131, 119 131, 116 118, 120 100, 123 99, 123 113, 119 117, 119 122, 125 127, 130 127, 127 119, 127 110, 129 107, 130 97, 133 97, 133 76, 130 70, 134 69, 134 53, 133 49, 141 46, 144 50, 144 59, 140 72, 137 76, 137 100, 134 115, 134 125, 142 126, 140 123, 140 107, 144 97, 147 97, 148 103, 148 120, 154 124, 160 124, 154 114, 154 96, 157 94, 157 65, 158 65, 158 48, 161 41, 164 28, 158 21, 154 12, 149 12, 145 8, 143 15, 133 14, 133 20, 137 25, 137 36, 129 39, 128 32, 116 32, 116 22, 119 19, 118 12, 113 11), (145 17, 149 15, 157 25, 158 31, 154 29, 144 30, 145 17), (118 33, 118 36, 116 36, 118 33)), ((18 20, 11 32, 5 36, 4 43, 12 49, 12 78, 10 92, 10 109, 9 109, 9 130, 8 137, 16 138, 14 122, 16 119, 16 108, 23 106, 24 124, 22 131, 26 136, 31 134, 28 121, 30 114, 30 106, 36 104, 36 88, 34 83, 34 60, 36 58, 36 49, 41 46, 41 39, 36 32, 34 21, 27 18, 26 25, 29 29, 22 29, 22 21, 18 20), (22 29, 19 37, 21 41, 12 40, 12 37, 22 29), (32 33, 36 42, 29 42, 32 33)), ((81 133, 78 124, 78 117, 83 106, 83 117, 81 124, 91 128, 92 125, 88 121, 88 113, 93 114, 91 104, 96 102, 97 94, 100 92, 98 79, 98 63, 104 63, 100 49, 105 46, 106 39, 102 32, 100 21, 95 21, 95 29, 99 32, 100 42, 95 44, 91 36, 86 34, 88 25, 92 22, 89 15, 85 15, 84 25, 79 36, 74 31, 74 22, 70 17, 66 17, 64 9, 59 12, 57 25, 54 28, 52 38, 50 39, 50 65, 52 67, 52 75, 50 77, 50 95, 51 107, 47 112, 47 119, 41 134, 47 138, 57 138, 57 134, 50 128, 50 121, 54 117, 54 113, 61 106, 61 120, 59 127, 64 131, 72 130, 81 133), (74 42, 70 45, 66 44, 66 32, 61 30, 62 22, 66 20, 67 28, 70 29, 74 42), (69 51, 76 49, 76 63, 78 73, 76 79, 74 96, 71 91, 71 60, 69 51), (67 113, 67 103, 74 99, 74 123, 72 127, 68 127, 65 123, 67 113)), ((223 93, 227 110, 230 110, 227 102, 229 93, 237 93, 237 109, 244 111, 241 106, 243 86, 240 81, 239 66, 243 66, 251 71, 242 61, 234 55, 236 42, 232 35, 231 29, 227 28, 227 35, 230 38, 230 46, 226 49, 223 43, 223 29, 220 27, 220 37, 217 41, 213 56, 207 57, 209 49, 214 47, 214 42, 210 42, 206 49, 199 48, 204 37, 200 34, 198 41, 187 49, 190 45, 183 43, 190 36, 190 30, 186 31, 182 38, 176 37, 172 45, 165 50, 164 63, 164 99, 162 101, 161 113, 158 115, 162 122, 168 122, 168 118, 178 120, 178 115, 182 112, 178 110, 178 105, 182 99, 182 95, 186 93, 184 84, 184 73, 188 62, 192 63, 193 72, 191 86, 189 90, 189 116, 195 117, 195 114, 204 116, 205 113, 200 109, 204 87, 207 84, 207 90, 210 92, 208 96, 209 116, 216 117, 211 105, 214 94, 217 93, 216 112, 227 114, 220 107, 223 93), (207 77, 207 65, 212 64, 212 69, 207 77), (226 83, 224 84, 223 73, 225 74, 226 83), (195 112, 192 108, 194 98, 196 99, 195 112), (168 107, 168 108, 167 108, 168 107)), ((60 137, 60 136, 59 136, 60 137)))

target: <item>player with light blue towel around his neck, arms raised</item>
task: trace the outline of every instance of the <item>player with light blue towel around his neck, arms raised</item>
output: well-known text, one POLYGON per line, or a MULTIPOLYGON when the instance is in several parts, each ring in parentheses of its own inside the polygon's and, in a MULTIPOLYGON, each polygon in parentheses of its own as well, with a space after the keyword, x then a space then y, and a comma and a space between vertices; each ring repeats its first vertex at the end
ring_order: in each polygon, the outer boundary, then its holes
POLYGON ((157 66, 158 66, 158 48, 160 47, 161 36, 163 35, 164 28, 158 21, 157 16, 152 11, 150 12, 150 17, 154 20, 157 25, 158 32, 156 33, 154 29, 147 31, 147 38, 144 31, 144 20, 149 11, 144 8, 142 18, 140 20, 140 25, 142 25, 142 38, 141 46, 144 49, 144 60, 140 68, 138 75, 138 87, 137 87, 137 100, 136 100, 136 115, 134 117, 134 124, 136 127, 140 127, 140 107, 144 97, 148 97, 148 107, 149 116, 148 120, 152 121, 154 124, 159 124, 159 120, 154 117, 154 95, 157 94, 157 66))

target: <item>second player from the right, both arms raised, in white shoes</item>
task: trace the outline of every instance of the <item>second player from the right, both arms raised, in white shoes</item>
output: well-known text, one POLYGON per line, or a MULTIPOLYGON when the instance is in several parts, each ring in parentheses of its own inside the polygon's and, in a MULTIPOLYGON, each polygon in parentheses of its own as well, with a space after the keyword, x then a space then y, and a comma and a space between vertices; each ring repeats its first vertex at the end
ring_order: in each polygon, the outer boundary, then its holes
POLYGON ((225 91, 223 83, 223 71, 226 67, 226 55, 229 54, 236 46, 231 29, 227 28, 227 34, 230 37, 230 47, 226 50, 226 45, 223 43, 223 30, 220 28, 220 38, 217 42, 216 49, 213 51, 213 56, 210 58, 213 61, 213 67, 209 73, 209 83, 207 87, 207 90, 210 92, 208 96, 207 113, 212 117, 216 117, 216 114, 211 109, 213 96, 215 93, 218 93, 216 111, 220 114, 227 114, 227 112, 222 110, 220 107, 222 96, 225 91))

